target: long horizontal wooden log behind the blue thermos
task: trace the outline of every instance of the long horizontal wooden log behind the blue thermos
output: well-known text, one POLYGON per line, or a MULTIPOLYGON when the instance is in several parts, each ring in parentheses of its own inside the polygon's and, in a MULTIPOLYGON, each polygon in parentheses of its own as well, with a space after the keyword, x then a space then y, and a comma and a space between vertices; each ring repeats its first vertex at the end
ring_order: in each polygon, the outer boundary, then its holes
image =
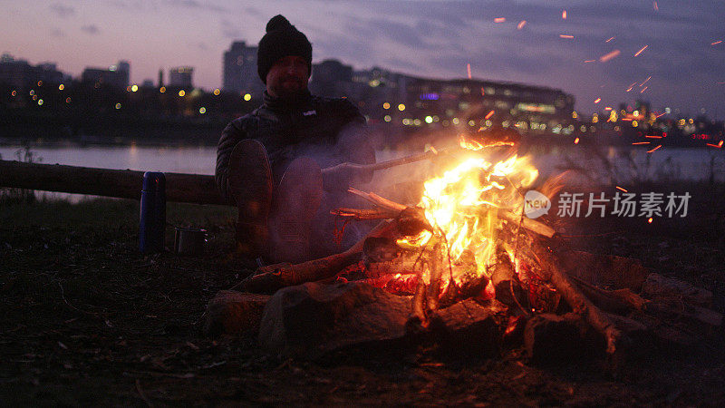
MULTIPOLYGON (((0 187, 140 199, 143 173, 0 160, 0 187)), ((164 175, 167 201, 234 205, 221 198, 214 176, 171 172, 164 175)))

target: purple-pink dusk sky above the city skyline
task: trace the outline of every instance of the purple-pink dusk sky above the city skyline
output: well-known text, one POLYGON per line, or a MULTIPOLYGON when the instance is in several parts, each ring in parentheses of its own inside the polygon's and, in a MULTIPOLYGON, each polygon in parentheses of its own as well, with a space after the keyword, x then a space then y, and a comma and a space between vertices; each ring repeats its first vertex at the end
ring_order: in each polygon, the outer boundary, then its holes
POLYGON ((269 18, 282 14, 313 43, 314 62, 336 58, 355 69, 380 66, 432 78, 464 78, 470 63, 474 78, 573 93, 582 112, 642 98, 655 109, 669 106, 691 115, 704 109, 710 117, 725 118, 723 0, 0 0, 0 5, 5 12, 0 53, 33 64, 57 63, 73 76, 86 66, 128 60, 133 83, 156 83, 160 68, 189 65, 195 85, 211 90, 221 85, 222 54, 231 42, 256 45, 269 18), (618 55, 602 61, 616 50, 618 55))

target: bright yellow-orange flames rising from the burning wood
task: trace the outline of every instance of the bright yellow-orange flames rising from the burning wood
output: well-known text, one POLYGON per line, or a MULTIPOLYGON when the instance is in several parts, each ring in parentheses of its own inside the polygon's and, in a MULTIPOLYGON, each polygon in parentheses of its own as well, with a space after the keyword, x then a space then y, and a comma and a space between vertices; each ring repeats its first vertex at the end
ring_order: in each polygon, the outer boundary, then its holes
MULTIPOLYGON (((463 138, 461 145, 481 149, 480 143, 463 138)), ((526 189, 537 177, 538 170, 528 158, 517 155, 498 162, 482 154, 463 160, 424 184, 418 207, 424 210, 434 232, 425 230, 399 243, 440 250, 440 257, 454 265, 465 254, 467 263, 475 260, 471 265, 475 265, 476 274, 485 274, 496 262, 498 228, 504 220, 500 217, 504 212, 515 217, 521 214, 524 199, 519 189, 526 189)), ((456 281, 464 274, 459 268, 450 269, 450 273, 456 281)))

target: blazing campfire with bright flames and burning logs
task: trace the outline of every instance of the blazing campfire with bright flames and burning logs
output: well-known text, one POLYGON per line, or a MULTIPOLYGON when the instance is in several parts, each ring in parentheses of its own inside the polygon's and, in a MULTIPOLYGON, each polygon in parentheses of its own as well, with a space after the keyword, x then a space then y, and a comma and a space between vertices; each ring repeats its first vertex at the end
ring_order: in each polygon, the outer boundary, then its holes
MULTIPOLYGON (((426 157, 440 157, 445 165, 424 182, 420 202, 406 205, 349 189, 372 203, 372 209, 340 208, 333 214, 348 222, 380 219, 365 238, 331 257, 261 267, 241 287, 274 293, 304 282, 368 284, 405 299, 405 332, 419 334, 441 316, 472 319, 471 305, 488 315, 504 313, 502 333, 527 322, 527 333, 531 322, 558 324, 568 311, 569 320, 574 316, 603 339, 611 361, 618 360, 632 336, 672 337, 672 325, 660 324, 668 314, 682 316, 688 310, 692 321, 720 326, 721 316, 709 309, 677 306, 680 310, 673 311, 662 297, 653 297, 658 303, 638 295, 645 295, 647 285, 650 297, 672 286, 652 279, 656 274, 638 262, 574 251, 555 228, 528 218, 525 195, 538 171, 517 154, 515 133, 461 138, 459 147, 432 149, 426 157), (603 287, 602 279, 614 285, 603 287), (660 323, 653 325, 652 315, 660 323)), ((544 183, 538 189, 553 194, 556 186, 544 183)), ((692 326, 681 328, 686 333, 692 326)), ((530 331, 536 333, 536 327, 530 331)))

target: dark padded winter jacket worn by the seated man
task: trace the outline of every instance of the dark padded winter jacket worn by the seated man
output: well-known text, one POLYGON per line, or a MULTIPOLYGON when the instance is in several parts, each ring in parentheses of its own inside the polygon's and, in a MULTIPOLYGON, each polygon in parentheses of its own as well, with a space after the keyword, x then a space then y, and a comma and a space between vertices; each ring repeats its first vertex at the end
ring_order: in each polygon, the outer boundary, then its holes
POLYGON ((275 182, 289 162, 300 156, 313 157, 322 168, 343 161, 374 162, 365 118, 353 103, 309 92, 294 102, 282 102, 265 92, 262 106, 229 122, 219 139, 216 180, 223 197, 228 197, 229 156, 243 139, 265 146, 275 182))

